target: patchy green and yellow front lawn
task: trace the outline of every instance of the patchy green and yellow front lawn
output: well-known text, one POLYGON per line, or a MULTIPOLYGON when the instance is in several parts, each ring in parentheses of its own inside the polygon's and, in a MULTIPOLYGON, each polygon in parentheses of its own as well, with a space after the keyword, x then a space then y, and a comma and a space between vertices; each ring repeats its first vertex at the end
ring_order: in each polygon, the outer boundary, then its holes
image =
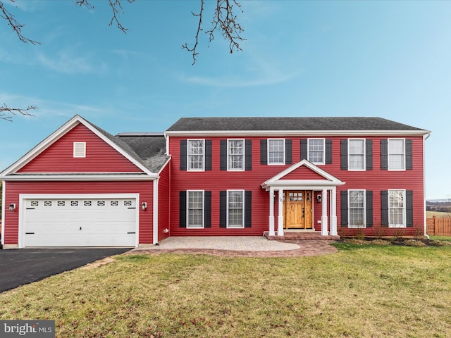
POLYGON ((451 246, 333 255, 117 256, 0 294, 56 337, 451 337, 451 246))

